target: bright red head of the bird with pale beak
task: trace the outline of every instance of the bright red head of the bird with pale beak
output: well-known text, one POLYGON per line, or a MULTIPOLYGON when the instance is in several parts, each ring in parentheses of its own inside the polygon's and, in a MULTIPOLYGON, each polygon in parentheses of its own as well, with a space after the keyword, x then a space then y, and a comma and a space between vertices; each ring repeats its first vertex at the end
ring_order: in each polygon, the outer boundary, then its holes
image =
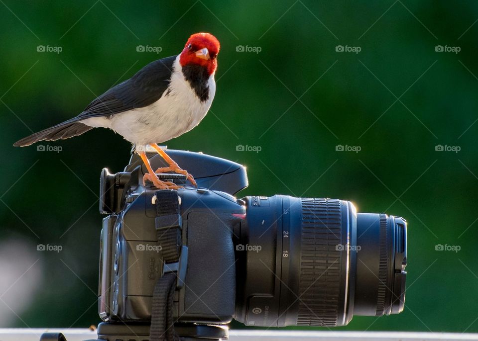
POLYGON ((212 75, 218 67, 217 56, 220 49, 219 40, 210 33, 195 33, 189 37, 184 50, 179 56, 182 67, 188 64, 201 65, 212 75))

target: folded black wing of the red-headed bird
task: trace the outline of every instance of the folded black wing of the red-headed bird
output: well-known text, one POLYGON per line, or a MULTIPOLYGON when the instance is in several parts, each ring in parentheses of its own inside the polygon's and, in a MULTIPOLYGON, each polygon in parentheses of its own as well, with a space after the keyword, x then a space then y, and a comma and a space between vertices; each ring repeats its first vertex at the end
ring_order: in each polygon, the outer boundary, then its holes
POLYGON ((154 103, 168 88, 176 57, 171 56, 149 63, 129 80, 98 96, 75 117, 75 121, 110 116, 154 103))

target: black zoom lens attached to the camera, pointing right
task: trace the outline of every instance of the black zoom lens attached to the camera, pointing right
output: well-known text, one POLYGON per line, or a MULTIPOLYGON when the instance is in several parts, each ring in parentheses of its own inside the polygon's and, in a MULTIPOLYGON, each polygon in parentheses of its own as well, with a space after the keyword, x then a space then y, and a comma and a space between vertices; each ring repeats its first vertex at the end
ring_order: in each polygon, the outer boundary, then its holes
POLYGON ((406 221, 349 201, 243 198, 235 319, 248 326, 347 325, 398 314, 405 301, 406 221))

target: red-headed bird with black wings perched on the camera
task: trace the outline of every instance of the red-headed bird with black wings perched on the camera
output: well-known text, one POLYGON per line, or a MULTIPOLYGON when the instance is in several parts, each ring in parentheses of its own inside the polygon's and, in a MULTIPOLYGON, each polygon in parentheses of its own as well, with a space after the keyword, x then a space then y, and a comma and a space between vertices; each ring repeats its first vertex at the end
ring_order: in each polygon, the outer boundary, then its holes
POLYGON ((76 117, 27 136, 13 146, 68 139, 97 127, 110 128, 131 142, 144 162, 147 173, 143 184, 149 180, 159 189, 182 188, 156 175, 176 172, 186 175, 197 187, 194 177, 181 169, 158 143, 190 131, 206 116, 216 93, 214 75, 219 50, 220 43, 214 35, 195 33, 179 55, 149 63, 130 79, 95 98, 76 117), (145 152, 148 145, 168 167, 152 170, 145 152))

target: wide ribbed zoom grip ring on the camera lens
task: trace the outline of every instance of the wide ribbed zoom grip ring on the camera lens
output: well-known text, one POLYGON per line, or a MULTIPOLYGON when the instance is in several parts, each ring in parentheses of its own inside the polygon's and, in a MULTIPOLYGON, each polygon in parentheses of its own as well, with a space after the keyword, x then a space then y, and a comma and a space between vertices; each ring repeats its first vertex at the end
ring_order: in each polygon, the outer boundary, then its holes
POLYGON ((297 326, 338 325, 342 243, 341 201, 302 198, 297 326))

